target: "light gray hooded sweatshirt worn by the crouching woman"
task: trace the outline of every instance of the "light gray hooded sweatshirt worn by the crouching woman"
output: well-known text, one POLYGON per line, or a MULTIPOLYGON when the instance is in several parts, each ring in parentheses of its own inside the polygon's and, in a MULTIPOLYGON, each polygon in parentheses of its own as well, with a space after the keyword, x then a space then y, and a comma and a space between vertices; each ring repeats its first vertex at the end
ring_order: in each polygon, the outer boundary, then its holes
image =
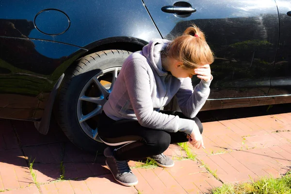
POLYGON ((169 132, 191 134, 195 122, 160 113, 176 95, 178 105, 193 118, 210 94, 210 82, 201 80, 193 89, 190 78, 176 78, 162 68, 160 51, 170 41, 153 39, 142 51, 132 53, 124 62, 113 91, 103 110, 113 120, 135 119, 140 125, 169 132))

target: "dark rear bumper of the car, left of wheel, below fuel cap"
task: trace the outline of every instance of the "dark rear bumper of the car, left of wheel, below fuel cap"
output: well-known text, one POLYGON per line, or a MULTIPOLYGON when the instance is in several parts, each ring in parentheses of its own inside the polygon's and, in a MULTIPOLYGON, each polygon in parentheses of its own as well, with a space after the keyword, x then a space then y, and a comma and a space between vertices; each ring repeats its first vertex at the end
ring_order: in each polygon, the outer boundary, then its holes
POLYGON ((65 69, 86 49, 0 37, 0 118, 39 120, 65 69))

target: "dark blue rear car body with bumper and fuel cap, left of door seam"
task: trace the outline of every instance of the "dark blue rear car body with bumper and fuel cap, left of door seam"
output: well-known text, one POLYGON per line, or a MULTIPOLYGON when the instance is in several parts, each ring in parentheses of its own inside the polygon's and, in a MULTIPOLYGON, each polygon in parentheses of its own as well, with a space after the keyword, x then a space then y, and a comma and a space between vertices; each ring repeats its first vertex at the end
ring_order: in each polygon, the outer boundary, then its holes
POLYGON ((88 50, 161 38, 142 1, 12 0, 0 9, 0 118, 40 120, 56 81, 88 50))

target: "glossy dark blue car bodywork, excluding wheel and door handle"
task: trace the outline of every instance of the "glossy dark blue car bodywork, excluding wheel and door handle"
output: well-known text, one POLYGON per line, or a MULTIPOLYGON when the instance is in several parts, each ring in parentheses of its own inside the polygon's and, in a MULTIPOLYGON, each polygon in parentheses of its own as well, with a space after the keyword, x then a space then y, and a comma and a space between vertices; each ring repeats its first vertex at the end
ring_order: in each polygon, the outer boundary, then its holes
POLYGON ((196 8, 188 17, 162 12, 174 0, 3 1, 0 118, 39 121, 56 81, 78 58, 125 43, 141 47, 152 38, 173 39, 192 23, 216 55, 202 110, 291 102, 290 96, 275 97, 290 94, 284 81, 290 81, 291 44, 291 17, 280 5, 285 1, 276 1, 280 17, 275 0, 187 0, 196 8))

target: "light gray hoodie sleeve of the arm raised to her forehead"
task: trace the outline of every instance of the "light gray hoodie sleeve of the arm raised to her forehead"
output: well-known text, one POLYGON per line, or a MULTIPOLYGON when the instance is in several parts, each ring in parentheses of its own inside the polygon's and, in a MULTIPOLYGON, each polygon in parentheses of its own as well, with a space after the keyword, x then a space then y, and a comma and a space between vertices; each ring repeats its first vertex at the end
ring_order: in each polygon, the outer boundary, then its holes
POLYGON ((176 97, 178 98, 178 105, 182 113, 193 118, 205 104, 210 94, 210 81, 201 80, 199 84, 193 89, 192 81, 190 78, 185 78, 178 90, 176 97))

